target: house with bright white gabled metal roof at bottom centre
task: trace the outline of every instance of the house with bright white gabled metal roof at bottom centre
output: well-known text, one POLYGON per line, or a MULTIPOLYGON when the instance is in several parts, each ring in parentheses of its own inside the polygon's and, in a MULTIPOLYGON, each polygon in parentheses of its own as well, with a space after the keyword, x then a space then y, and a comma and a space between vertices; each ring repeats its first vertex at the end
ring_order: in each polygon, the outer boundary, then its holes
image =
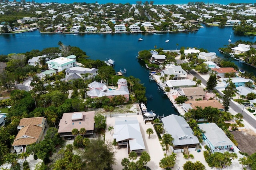
POLYGON ((128 153, 132 151, 141 153, 145 149, 140 124, 136 117, 115 118, 113 138, 118 146, 126 146, 128 153))

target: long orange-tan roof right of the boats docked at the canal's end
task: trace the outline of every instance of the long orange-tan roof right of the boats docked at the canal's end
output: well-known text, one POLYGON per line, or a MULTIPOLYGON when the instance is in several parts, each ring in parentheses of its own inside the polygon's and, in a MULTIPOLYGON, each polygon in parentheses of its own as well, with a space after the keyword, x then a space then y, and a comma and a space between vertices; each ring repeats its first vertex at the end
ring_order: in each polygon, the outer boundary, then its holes
POLYGON ((193 109, 196 109, 196 107, 202 107, 202 109, 204 109, 209 106, 217 109, 224 109, 217 100, 185 101, 185 103, 190 104, 193 109))

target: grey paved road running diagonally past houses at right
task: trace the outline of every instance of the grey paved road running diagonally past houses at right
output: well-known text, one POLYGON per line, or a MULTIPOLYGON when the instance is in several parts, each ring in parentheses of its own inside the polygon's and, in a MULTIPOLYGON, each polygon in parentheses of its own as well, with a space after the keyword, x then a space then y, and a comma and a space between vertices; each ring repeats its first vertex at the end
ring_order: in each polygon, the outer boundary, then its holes
MULTIPOLYGON (((200 75, 198 75, 196 71, 191 70, 190 73, 197 79, 202 80, 202 84, 206 86, 207 81, 203 79, 200 75)), ((215 89, 215 90, 218 91, 218 93, 222 96, 222 93, 218 89, 215 89)), ((230 101, 230 108, 236 111, 236 113, 242 113, 242 115, 244 116, 244 120, 256 129, 256 120, 253 119, 250 115, 248 115, 248 113, 244 111, 244 105, 238 105, 234 103, 234 101, 230 101)))

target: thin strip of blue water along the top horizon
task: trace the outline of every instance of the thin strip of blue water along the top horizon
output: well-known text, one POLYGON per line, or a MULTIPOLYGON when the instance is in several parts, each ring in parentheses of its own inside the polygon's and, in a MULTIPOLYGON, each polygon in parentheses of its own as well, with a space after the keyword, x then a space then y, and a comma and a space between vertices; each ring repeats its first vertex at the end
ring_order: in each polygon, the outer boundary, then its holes
MULTIPOLYGON (((30 0, 31 1, 31 0, 30 0)), ((121 4, 136 4, 137 0, 35 0, 35 2, 43 3, 43 2, 57 2, 57 3, 66 3, 72 4, 77 2, 86 2, 86 3, 95 3, 98 2, 99 4, 106 4, 106 3, 121 3, 121 4)), ((145 0, 142 1, 144 3, 145 0)), ((150 2, 150 0, 148 0, 150 2)), ((154 0, 154 4, 188 4, 188 2, 204 2, 205 4, 230 4, 230 3, 250 3, 253 4, 253 0, 154 0)))

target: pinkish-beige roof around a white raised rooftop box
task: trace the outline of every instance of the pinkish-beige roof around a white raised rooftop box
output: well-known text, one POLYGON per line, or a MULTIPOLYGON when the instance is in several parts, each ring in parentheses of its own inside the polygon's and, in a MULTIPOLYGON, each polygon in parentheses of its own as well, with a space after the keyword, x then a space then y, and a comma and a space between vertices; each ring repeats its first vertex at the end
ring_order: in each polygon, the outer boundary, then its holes
POLYGON ((86 130, 94 130, 94 111, 90 112, 74 112, 74 113, 64 113, 62 119, 60 119, 58 133, 71 132, 72 129, 85 128, 86 130), (82 113, 83 119, 72 121, 72 115, 82 113))

